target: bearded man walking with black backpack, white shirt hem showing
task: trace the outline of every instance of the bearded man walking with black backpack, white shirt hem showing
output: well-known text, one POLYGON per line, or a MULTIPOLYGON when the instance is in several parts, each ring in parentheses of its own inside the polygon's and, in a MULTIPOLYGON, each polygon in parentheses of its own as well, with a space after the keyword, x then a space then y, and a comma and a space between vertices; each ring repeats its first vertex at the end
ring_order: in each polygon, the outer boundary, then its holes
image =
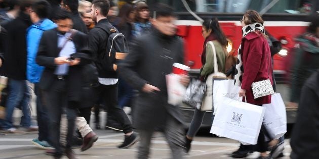
POLYGON ((113 70, 113 64, 108 64, 110 68, 104 68, 101 57, 108 56, 106 50, 107 39, 111 29, 115 29, 107 20, 106 16, 109 11, 109 2, 107 0, 94 0, 92 2, 92 20, 96 26, 89 32, 89 47, 93 52, 93 60, 99 73, 100 86, 98 93, 102 95, 107 107, 108 116, 117 118, 125 133, 125 140, 118 148, 128 148, 137 142, 138 137, 133 132, 133 128, 128 116, 117 105, 117 72, 113 70))

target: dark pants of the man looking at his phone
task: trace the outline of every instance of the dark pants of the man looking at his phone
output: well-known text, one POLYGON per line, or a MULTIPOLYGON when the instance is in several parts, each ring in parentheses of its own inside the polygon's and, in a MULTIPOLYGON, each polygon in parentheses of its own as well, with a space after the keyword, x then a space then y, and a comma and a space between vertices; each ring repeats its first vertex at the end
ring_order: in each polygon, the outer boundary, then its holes
POLYGON ((67 116, 67 136, 66 136, 66 149, 72 146, 72 136, 74 132, 76 105, 68 105, 66 95, 66 82, 65 80, 55 79, 52 83, 50 90, 45 90, 46 105, 48 105, 48 112, 50 118, 50 136, 52 138, 51 144, 55 148, 55 156, 62 155, 62 148, 60 145, 60 121, 61 115, 66 112, 67 116))

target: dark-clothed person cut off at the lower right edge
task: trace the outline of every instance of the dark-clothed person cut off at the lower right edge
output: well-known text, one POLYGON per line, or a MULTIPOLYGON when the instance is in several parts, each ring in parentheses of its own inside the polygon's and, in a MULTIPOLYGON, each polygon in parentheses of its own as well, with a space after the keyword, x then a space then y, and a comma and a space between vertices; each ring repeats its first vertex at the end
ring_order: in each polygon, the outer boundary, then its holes
POLYGON ((302 87, 290 145, 292 159, 316 159, 319 156, 319 70, 302 87))

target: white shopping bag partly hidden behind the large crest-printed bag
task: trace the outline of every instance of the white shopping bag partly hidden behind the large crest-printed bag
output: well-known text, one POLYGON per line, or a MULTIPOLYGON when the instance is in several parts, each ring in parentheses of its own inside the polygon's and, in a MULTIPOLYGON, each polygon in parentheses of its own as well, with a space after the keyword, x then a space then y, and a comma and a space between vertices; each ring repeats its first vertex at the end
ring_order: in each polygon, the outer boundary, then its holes
POLYGON ((221 80, 214 80, 213 85, 213 102, 214 102, 214 113, 216 114, 218 110, 218 103, 223 101, 222 97, 228 97, 233 100, 242 101, 243 97, 240 97, 238 92, 240 91, 241 87, 234 85, 233 79, 221 79, 221 80))

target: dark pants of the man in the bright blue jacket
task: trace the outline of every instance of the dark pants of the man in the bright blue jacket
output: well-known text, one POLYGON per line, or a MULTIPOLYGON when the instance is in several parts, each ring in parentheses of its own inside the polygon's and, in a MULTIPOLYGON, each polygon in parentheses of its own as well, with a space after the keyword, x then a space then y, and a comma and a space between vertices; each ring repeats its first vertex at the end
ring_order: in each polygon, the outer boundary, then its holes
POLYGON ((38 125, 38 140, 47 141, 50 143, 49 136, 49 116, 48 109, 43 102, 43 92, 39 88, 38 83, 34 85, 34 93, 36 95, 36 120, 38 125))

